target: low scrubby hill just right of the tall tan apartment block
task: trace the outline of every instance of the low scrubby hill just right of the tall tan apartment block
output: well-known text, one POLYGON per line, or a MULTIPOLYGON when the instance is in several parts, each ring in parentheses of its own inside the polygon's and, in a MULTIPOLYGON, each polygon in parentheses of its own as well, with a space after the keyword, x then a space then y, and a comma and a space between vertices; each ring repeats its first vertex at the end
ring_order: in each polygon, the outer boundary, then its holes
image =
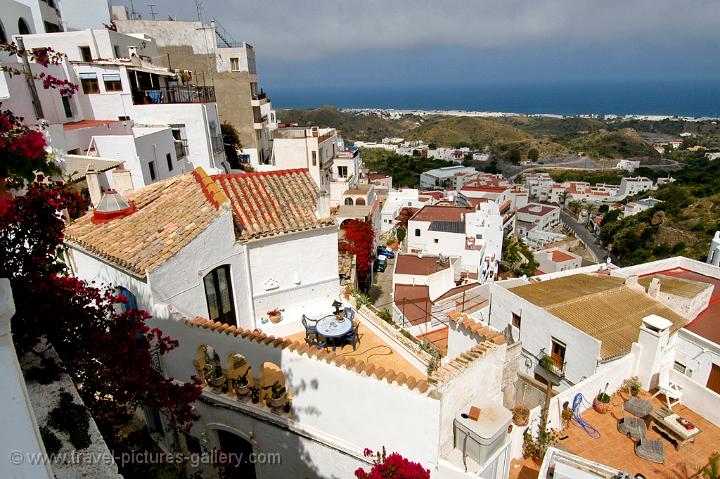
POLYGON ((406 130, 416 126, 409 120, 387 120, 377 115, 343 112, 334 106, 309 110, 278 110, 277 116, 281 123, 337 128, 346 141, 380 141, 387 136, 403 136, 406 130))

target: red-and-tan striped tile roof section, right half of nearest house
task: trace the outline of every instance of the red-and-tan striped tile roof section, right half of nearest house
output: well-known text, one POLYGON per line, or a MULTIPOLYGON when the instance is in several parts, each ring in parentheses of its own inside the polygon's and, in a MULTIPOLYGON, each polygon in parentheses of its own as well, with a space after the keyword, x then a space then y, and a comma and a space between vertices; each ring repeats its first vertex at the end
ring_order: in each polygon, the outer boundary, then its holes
POLYGON ((230 198, 241 240, 333 223, 315 216, 318 189, 307 169, 215 175, 213 180, 230 198))

